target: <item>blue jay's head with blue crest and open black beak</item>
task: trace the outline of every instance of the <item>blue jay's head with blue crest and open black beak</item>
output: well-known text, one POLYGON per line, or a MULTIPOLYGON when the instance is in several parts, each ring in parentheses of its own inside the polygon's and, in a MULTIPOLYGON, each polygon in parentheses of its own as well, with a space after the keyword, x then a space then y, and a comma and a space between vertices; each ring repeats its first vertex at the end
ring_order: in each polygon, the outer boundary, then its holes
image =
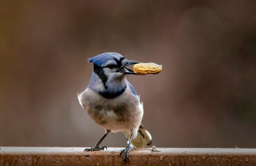
POLYGON ((98 74, 104 83, 107 80, 118 81, 124 78, 126 74, 136 74, 126 66, 139 63, 137 61, 128 61, 124 56, 115 52, 99 54, 89 58, 88 62, 93 63, 94 72, 98 74))

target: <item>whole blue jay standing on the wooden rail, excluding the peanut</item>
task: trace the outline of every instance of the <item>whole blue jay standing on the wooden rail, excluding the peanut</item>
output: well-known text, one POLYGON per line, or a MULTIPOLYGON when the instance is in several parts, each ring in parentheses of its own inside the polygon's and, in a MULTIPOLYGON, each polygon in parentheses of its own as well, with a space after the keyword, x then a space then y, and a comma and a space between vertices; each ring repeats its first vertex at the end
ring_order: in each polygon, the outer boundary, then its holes
POLYGON ((105 129, 105 134, 93 148, 84 151, 107 149, 106 146, 99 147, 103 139, 110 132, 124 132, 128 146, 119 156, 124 153, 126 163, 134 147, 146 147, 152 139, 141 124, 143 103, 126 79, 126 74, 136 74, 126 66, 139 62, 128 61, 115 52, 99 54, 89 58, 88 62, 94 65, 92 78, 85 91, 78 94, 78 99, 94 122, 105 129))

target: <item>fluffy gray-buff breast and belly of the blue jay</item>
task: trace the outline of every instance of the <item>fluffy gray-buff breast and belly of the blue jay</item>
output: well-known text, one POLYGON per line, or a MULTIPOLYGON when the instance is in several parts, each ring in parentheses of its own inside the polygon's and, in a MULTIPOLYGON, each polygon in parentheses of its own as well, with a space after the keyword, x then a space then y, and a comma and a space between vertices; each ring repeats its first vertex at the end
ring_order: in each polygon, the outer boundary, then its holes
POLYGON ((85 90, 79 101, 90 117, 101 127, 112 131, 130 131, 138 128, 143 116, 137 96, 131 93, 120 95, 118 99, 106 99, 92 90, 85 90))

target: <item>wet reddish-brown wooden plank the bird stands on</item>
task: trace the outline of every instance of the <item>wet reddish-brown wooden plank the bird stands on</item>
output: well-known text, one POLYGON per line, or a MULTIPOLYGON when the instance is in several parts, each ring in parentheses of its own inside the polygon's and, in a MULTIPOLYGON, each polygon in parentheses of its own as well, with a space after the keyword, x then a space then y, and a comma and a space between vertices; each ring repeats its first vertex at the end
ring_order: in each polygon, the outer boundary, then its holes
MULTIPOLYGON (((2 165, 124 165, 119 158, 123 148, 108 148, 97 152, 83 152, 84 148, 61 147, 0 147, 2 165)), ((227 165, 256 166, 253 148, 152 148, 130 152, 126 165, 227 165)))

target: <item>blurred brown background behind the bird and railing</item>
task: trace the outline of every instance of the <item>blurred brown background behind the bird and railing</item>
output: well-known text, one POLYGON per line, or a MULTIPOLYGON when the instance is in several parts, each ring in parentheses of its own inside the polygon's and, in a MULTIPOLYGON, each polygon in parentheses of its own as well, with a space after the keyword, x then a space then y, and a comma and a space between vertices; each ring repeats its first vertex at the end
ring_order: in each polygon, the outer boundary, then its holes
MULTIPOLYGON (((255 0, 0 2, 0 146, 92 147, 87 59, 163 65, 128 76, 157 147, 256 148, 255 0)), ((124 134, 102 143, 125 147, 124 134)))

